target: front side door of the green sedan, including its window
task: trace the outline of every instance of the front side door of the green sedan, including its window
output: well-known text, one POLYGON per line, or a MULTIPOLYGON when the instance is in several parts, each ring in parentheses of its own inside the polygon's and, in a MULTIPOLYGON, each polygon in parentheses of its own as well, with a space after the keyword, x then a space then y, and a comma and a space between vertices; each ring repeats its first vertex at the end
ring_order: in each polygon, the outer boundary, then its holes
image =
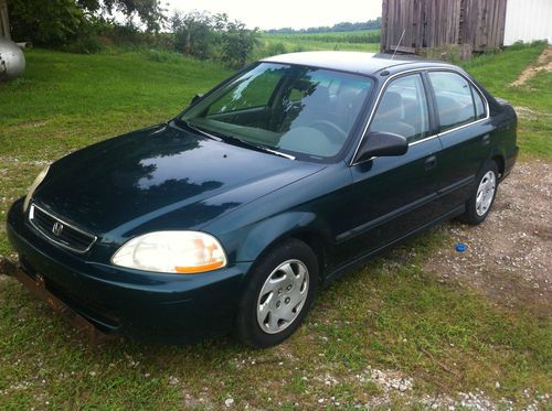
POLYGON ((408 151, 373 158, 351 167, 352 257, 375 251, 434 219, 436 153, 440 143, 429 121, 421 73, 392 79, 383 91, 370 131, 401 134, 408 151))

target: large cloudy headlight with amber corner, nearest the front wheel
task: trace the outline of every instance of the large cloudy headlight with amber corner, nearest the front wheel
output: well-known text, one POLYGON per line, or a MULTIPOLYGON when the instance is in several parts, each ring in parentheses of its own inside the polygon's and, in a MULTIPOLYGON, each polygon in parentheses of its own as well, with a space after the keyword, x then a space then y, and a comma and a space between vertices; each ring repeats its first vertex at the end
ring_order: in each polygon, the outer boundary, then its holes
POLYGON ((226 256, 209 234, 155 231, 123 245, 112 262, 138 270, 195 274, 226 266, 226 256))

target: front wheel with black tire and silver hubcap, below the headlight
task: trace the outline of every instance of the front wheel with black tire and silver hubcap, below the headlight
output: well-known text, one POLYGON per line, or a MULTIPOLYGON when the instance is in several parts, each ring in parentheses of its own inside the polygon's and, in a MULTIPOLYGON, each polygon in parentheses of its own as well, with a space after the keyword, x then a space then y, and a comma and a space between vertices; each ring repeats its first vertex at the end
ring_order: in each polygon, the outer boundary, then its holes
POLYGON ((318 285, 318 259, 305 242, 289 239, 252 270, 235 331, 243 343, 267 348, 288 338, 305 320, 318 285))

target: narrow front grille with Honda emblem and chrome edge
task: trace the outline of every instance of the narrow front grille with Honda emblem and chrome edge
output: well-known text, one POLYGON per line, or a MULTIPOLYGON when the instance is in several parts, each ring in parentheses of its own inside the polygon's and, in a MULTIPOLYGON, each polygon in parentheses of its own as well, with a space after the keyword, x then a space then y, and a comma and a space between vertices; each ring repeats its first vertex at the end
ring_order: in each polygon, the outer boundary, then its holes
POLYGON ((96 236, 65 223, 34 204, 29 209, 29 221, 50 241, 72 251, 86 252, 96 241, 96 236))

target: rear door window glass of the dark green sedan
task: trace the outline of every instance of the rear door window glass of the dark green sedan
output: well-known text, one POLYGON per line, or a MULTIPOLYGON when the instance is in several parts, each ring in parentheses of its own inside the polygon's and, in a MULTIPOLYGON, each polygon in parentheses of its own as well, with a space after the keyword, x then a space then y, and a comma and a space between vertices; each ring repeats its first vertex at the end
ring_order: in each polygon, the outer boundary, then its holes
MULTIPOLYGON (((450 72, 429 72, 428 77, 437 100, 440 131, 476 120, 477 102, 474 104, 476 95, 463 76, 450 72)), ((478 94, 477 96, 481 98, 478 94)), ((482 101, 479 104, 482 106, 482 101)))

